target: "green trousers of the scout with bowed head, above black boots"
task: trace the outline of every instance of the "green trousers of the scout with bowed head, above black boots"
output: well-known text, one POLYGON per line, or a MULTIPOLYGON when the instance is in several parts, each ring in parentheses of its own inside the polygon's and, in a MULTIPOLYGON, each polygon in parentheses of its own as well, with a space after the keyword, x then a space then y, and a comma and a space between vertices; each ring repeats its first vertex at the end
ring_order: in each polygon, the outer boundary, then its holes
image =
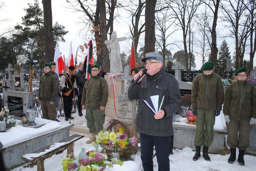
POLYGON ((197 109, 195 146, 211 146, 213 142, 213 126, 215 124, 215 111, 197 109))

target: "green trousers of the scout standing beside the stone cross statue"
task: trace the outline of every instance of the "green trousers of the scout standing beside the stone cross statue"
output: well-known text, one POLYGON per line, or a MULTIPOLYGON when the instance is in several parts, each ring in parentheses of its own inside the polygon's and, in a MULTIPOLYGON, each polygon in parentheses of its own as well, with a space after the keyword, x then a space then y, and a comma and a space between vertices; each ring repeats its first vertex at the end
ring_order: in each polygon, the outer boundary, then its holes
POLYGON ((90 133, 98 134, 103 129, 105 111, 100 111, 100 109, 86 109, 85 118, 90 133))

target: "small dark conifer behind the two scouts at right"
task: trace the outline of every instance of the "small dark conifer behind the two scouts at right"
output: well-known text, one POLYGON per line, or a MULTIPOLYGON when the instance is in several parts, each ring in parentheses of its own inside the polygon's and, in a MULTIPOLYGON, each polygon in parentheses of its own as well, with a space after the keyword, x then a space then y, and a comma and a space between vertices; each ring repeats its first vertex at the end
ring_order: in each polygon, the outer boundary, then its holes
POLYGON ((226 40, 223 40, 221 43, 221 47, 219 48, 219 54, 217 58, 217 62, 215 64, 215 69, 219 72, 225 72, 226 71, 226 61, 227 59, 230 59, 230 51, 228 44, 226 40))

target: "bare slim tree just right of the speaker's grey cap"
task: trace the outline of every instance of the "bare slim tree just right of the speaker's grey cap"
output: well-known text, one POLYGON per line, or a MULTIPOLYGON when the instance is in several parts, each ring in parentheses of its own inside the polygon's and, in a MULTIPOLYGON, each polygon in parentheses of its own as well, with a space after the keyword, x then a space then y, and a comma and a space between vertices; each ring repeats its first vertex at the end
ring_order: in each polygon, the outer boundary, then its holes
POLYGON ((165 66, 165 57, 168 47, 174 43, 168 43, 167 39, 173 35, 178 29, 175 29, 173 25, 175 24, 174 20, 171 18, 171 11, 167 8, 163 11, 156 13, 156 46, 161 49, 163 56, 163 64, 165 66), (171 30, 172 29, 172 30, 171 30), (170 31, 171 30, 171 31, 170 31))

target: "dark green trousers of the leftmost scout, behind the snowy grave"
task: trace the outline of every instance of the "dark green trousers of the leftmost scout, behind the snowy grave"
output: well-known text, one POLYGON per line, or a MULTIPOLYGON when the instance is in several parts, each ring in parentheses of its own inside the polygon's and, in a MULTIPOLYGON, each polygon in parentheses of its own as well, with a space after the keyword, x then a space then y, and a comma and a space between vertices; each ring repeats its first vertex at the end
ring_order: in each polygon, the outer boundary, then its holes
POLYGON ((56 108, 55 103, 50 104, 50 100, 41 101, 41 110, 44 119, 56 121, 56 108))

